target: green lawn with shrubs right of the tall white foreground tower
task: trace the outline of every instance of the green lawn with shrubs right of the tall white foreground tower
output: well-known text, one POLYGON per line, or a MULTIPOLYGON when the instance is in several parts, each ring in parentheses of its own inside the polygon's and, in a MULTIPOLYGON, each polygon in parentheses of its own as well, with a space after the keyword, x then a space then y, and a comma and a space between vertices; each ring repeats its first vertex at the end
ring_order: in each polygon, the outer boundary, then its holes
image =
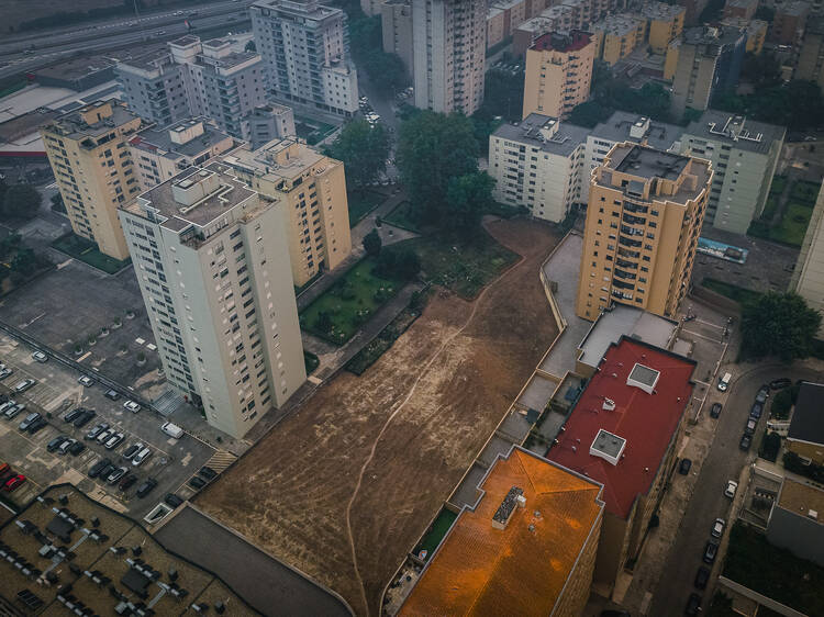
POLYGON ((301 327, 335 345, 349 340, 358 327, 403 287, 401 281, 376 277, 374 268, 374 259, 363 259, 307 306, 300 315, 301 327), (322 314, 329 316, 329 329, 323 328, 322 314))

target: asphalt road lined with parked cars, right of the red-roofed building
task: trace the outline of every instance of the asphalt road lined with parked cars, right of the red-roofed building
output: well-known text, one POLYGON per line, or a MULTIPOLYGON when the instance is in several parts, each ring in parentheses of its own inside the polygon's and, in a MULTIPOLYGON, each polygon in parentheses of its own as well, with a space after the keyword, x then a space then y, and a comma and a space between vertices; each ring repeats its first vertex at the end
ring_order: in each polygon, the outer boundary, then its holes
MULTIPOLYGON (((744 425, 749 416, 749 410, 759 386, 777 378, 792 377, 793 379, 819 380, 820 374, 806 369, 788 370, 781 366, 758 367, 738 375, 731 386, 726 399, 719 396, 717 390, 708 399, 708 405, 721 401, 724 405, 721 417, 715 420, 704 414, 700 422, 719 423, 715 429, 710 453, 703 461, 701 472, 695 484, 692 498, 681 520, 678 536, 669 551, 658 587, 653 595, 653 602, 647 615, 667 616, 682 615, 687 599, 692 592, 693 581, 699 565, 703 565, 702 556, 704 545, 710 539, 710 528, 716 517, 730 521, 732 501, 724 496, 727 480, 738 481, 738 476, 748 464, 755 460, 758 445, 767 425, 768 413, 761 416, 755 439, 749 452, 738 448, 738 441, 744 434, 744 425)), ((773 392, 775 394, 775 392, 773 392)), ((708 407, 709 410, 709 407, 708 407)), ((767 404, 769 410, 769 400, 767 404)), ((728 531, 728 528, 727 528, 728 531)), ((720 554, 715 562, 713 574, 716 575, 723 561, 720 554)), ((711 594, 708 586, 704 593, 703 607, 706 609, 711 594)))

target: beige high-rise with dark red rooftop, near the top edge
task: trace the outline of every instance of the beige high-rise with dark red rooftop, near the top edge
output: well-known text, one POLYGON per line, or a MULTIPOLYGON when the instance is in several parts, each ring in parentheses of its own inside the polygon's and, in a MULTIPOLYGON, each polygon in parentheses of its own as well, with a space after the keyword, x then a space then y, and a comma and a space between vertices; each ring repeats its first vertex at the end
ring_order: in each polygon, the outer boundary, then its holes
POLYGON ((595 44, 590 34, 547 33, 526 51, 522 117, 539 113, 566 117, 589 98, 595 44))

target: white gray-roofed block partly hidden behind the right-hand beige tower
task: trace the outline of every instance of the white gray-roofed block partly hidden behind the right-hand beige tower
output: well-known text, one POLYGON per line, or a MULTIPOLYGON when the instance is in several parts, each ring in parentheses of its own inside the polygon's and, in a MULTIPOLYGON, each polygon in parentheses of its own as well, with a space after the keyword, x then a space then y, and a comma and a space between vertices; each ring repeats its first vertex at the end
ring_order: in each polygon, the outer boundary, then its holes
POLYGON ((581 202, 589 202, 589 176, 603 164, 616 144, 633 142, 664 152, 679 152, 683 127, 625 111, 614 112, 587 135, 587 155, 581 182, 581 202))

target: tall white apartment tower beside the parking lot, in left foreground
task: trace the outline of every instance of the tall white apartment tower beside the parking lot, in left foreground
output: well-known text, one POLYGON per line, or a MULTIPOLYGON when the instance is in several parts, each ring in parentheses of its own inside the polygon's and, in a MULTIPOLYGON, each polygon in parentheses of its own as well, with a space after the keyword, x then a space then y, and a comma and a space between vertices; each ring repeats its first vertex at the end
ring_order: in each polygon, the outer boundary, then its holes
POLYGON ((280 207, 212 161, 120 210, 166 378, 235 438, 307 378, 280 207))

